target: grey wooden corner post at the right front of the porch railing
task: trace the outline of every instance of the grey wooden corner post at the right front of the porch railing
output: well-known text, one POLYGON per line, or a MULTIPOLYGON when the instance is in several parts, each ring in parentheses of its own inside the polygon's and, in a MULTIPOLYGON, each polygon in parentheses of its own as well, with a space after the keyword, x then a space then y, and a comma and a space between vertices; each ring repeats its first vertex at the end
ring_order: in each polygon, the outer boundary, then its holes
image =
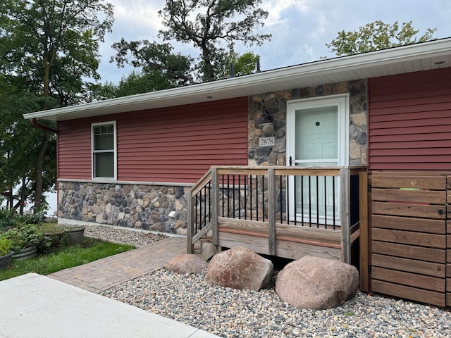
POLYGON ((350 245, 350 169, 340 169, 341 260, 351 263, 350 245))

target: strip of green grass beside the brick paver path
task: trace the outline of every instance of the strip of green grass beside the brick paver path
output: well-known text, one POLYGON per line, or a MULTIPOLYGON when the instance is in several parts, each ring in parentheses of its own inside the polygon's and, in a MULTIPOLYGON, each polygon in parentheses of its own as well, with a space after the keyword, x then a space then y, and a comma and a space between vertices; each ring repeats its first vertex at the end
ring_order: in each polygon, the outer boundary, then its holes
POLYGON ((0 280, 7 280, 25 273, 48 275, 131 249, 135 249, 135 246, 103 242, 100 239, 85 237, 80 245, 61 246, 51 249, 49 253, 39 254, 33 258, 22 261, 13 260, 12 268, 0 270, 0 280))

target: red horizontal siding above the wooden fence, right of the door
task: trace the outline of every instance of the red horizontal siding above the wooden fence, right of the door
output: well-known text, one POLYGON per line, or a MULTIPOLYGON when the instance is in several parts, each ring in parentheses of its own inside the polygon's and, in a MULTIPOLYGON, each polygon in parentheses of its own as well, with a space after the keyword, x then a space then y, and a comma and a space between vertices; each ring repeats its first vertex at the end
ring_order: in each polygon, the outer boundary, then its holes
POLYGON ((371 170, 451 169, 451 68, 369 79, 371 170))

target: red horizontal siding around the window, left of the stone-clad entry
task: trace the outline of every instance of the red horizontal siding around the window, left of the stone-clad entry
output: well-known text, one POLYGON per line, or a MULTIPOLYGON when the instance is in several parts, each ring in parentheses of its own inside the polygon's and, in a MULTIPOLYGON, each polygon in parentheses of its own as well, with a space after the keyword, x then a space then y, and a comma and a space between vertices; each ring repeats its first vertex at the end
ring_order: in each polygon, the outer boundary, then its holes
POLYGON ((91 123, 116 120, 118 180, 196 182, 247 165, 247 97, 60 123, 60 178, 91 178, 91 123))

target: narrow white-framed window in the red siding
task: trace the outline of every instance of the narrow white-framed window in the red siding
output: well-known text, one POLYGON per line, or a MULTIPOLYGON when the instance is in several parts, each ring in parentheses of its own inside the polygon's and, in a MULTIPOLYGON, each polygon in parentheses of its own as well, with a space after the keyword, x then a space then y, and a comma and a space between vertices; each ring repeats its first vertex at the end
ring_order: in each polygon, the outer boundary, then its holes
POLYGON ((116 180, 116 121, 92 124, 92 178, 116 180))

